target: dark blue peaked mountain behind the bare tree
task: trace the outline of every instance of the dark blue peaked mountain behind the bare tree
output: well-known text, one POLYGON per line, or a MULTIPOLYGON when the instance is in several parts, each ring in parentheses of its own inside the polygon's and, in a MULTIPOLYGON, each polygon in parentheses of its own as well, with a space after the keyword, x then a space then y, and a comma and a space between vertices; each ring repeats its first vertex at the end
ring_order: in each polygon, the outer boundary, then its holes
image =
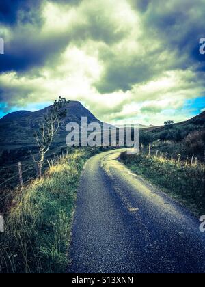
MULTIPOLYGON (((51 106, 40 111, 16 111, 5 115, 0 120, 0 146, 29 146, 34 144, 33 133, 42 122, 44 115, 51 109, 51 106)), ((70 101, 66 106, 67 115, 64 119, 61 131, 55 141, 65 141, 66 124, 77 122, 81 124, 81 117, 87 117, 87 122, 98 122, 102 124, 88 109, 80 102, 70 101)))

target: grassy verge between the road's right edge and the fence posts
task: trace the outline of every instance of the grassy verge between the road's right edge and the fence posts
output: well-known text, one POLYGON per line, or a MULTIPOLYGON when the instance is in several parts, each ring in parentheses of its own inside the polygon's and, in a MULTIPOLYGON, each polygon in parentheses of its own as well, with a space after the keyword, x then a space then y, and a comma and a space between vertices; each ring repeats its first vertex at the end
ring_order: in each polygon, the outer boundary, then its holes
POLYGON ((205 213, 205 166, 156 158, 146 154, 121 154, 124 164, 136 174, 163 188, 196 215, 205 213))

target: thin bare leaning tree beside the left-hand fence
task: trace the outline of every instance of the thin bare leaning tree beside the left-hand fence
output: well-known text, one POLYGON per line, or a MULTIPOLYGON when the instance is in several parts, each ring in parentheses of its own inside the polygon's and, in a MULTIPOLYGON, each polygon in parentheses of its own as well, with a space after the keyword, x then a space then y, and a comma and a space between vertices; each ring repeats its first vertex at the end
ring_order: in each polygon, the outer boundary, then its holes
POLYGON ((33 161, 36 162, 38 167, 38 176, 42 176, 42 163, 44 162, 44 156, 49 151, 53 137, 59 131, 61 121, 66 117, 66 105, 70 101, 66 98, 59 97, 55 100, 51 109, 44 116, 43 122, 40 124, 39 131, 35 133, 34 137, 38 146, 38 159, 33 156, 33 161))

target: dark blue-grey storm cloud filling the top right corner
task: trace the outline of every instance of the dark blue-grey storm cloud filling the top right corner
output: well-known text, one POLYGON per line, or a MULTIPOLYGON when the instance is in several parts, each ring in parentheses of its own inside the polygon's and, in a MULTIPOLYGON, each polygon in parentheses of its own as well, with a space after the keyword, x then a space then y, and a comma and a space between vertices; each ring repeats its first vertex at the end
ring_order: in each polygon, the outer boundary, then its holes
POLYGON ((199 40, 204 36, 204 0, 167 1, 163 7, 160 4, 160 0, 150 3, 143 18, 146 31, 170 51, 179 51, 187 64, 203 61, 199 40))

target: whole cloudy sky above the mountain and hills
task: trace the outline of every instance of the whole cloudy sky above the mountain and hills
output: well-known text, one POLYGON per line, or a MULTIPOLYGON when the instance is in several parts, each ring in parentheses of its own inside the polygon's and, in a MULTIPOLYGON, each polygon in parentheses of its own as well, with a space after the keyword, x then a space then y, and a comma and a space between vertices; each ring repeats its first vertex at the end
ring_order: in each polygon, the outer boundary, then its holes
POLYGON ((204 111, 205 0, 0 0, 0 116, 58 96, 112 124, 204 111))

